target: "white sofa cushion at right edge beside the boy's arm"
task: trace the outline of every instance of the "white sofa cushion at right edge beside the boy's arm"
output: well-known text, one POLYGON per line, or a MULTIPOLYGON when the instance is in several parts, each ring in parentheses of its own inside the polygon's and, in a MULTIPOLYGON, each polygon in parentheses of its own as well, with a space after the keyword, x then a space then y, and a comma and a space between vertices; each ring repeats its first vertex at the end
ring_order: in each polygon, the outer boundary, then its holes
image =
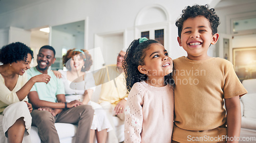
POLYGON ((256 119, 256 93, 242 96, 241 101, 244 104, 244 117, 256 119))

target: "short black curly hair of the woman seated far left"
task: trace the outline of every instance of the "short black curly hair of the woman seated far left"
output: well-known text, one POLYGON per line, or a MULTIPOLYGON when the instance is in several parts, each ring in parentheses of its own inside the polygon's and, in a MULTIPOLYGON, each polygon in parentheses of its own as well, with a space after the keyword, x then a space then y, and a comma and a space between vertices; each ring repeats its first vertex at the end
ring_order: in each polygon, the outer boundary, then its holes
POLYGON ((17 61, 26 61, 28 53, 31 54, 33 59, 33 51, 27 45, 20 42, 11 43, 0 49, 0 62, 11 64, 17 61))

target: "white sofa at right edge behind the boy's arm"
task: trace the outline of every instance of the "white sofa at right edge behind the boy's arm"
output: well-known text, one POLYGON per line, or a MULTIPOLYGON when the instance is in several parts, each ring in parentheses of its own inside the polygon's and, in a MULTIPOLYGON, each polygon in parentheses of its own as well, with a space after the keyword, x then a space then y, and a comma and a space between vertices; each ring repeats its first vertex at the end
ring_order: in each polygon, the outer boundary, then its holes
POLYGON ((256 142, 256 79, 243 80, 248 93, 241 97, 240 142, 256 142))

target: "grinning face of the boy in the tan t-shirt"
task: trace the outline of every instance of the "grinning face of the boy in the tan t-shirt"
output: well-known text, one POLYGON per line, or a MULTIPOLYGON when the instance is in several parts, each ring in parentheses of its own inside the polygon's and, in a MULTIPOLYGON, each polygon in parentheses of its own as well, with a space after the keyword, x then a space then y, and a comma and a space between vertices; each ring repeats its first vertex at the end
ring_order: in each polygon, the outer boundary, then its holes
POLYGON ((209 58, 207 50, 210 44, 216 44, 219 34, 212 35, 210 22, 204 16, 188 18, 183 22, 179 45, 187 52, 190 60, 206 60, 209 58))

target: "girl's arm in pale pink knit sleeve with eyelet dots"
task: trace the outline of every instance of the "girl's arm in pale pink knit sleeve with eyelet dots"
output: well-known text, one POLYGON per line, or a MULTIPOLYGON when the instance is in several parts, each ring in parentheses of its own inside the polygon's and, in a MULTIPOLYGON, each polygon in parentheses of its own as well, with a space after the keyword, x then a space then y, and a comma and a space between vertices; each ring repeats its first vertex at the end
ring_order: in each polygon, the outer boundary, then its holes
POLYGON ((143 95, 136 83, 131 89, 124 109, 124 142, 141 142, 143 95), (140 93, 140 94, 138 94, 140 93))

